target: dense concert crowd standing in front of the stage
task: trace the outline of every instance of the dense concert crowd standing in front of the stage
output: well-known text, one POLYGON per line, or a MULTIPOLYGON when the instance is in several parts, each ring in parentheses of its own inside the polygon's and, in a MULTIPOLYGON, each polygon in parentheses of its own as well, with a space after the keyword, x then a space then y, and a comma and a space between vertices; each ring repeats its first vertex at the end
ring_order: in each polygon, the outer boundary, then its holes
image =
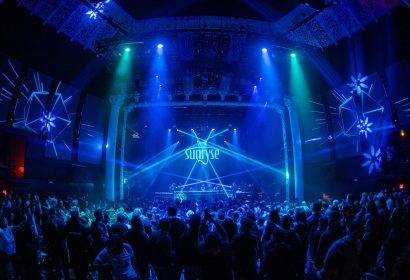
POLYGON ((0 279, 410 279, 408 189, 300 205, 0 199, 0 279))

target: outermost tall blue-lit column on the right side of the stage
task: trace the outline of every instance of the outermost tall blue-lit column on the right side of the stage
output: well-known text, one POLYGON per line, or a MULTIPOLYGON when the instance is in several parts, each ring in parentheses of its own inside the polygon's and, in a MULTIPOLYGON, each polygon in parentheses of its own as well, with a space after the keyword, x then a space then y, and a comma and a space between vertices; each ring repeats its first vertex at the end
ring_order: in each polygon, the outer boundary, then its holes
POLYGON ((299 201, 302 201, 304 199, 303 154, 298 112, 296 109, 295 101, 293 99, 285 98, 284 101, 289 113, 290 132, 292 135, 293 181, 295 183, 295 198, 297 198, 299 201))

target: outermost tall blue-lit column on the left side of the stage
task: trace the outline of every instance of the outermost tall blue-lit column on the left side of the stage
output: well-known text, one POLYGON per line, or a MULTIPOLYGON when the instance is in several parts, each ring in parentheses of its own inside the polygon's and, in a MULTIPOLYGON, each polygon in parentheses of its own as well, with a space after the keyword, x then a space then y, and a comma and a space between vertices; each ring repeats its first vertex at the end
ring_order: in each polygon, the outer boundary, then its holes
POLYGON ((105 198, 109 201, 115 200, 115 154, 117 147, 118 117, 124 100, 125 95, 113 95, 110 97, 111 111, 105 159, 105 198))

